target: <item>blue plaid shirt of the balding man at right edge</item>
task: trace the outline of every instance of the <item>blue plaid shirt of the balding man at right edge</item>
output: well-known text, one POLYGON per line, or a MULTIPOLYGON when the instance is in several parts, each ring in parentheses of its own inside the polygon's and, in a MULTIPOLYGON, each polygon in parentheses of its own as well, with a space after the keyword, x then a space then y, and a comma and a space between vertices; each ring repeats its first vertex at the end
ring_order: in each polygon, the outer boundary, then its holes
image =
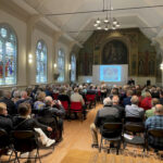
MULTIPOLYGON (((146 128, 147 129, 163 129, 163 115, 150 116, 146 121, 146 128)), ((153 145, 156 147, 163 147, 163 138, 153 138, 152 136, 149 136, 148 141, 150 145, 153 145)))

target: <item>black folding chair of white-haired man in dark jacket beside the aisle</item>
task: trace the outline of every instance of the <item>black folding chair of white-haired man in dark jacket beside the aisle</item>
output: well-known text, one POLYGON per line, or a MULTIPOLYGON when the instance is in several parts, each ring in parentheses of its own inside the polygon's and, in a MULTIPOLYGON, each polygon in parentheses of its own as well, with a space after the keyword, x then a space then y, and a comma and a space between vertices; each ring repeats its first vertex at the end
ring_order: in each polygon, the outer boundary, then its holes
MULTIPOLYGON (((99 152, 103 148, 103 140, 108 140, 110 142, 117 142, 116 153, 118 154, 118 150, 122 141, 122 123, 104 123, 100 128, 101 134, 101 142, 99 147, 99 152)), ((109 148, 110 150, 110 148, 109 148)))

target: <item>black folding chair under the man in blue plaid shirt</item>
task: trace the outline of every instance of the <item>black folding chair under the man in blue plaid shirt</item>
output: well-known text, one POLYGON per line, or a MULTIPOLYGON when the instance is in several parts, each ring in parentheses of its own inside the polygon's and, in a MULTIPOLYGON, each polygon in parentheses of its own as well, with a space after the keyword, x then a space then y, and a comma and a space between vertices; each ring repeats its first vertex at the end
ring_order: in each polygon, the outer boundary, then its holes
POLYGON ((148 139, 150 138, 150 136, 152 137, 152 139, 154 139, 154 138, 162 138, 163 139, 163 129, 149 129, 147 131, 147 149, 149 149, 149 147, 151 147, 155 151, 163 151, 163 145, 162 146, 154 146, 154 145, 149 143, 148 139))

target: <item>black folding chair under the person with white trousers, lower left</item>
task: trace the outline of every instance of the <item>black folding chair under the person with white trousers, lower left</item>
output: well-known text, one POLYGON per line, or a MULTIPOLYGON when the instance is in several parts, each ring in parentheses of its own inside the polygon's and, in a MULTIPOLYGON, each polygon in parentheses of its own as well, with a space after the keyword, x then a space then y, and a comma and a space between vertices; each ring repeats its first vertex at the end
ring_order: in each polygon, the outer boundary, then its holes
POLYGON ((35 162, 40 160, 38 138, 33 130, 14 130, 12 131, 13 152, 15 153, 15 160, 20 163, 20 159, 35 159, 35 162), (32 152, 36 149, 36 154, 33 158, 21 158, 22 153, 32 152), (20 153, 20 154, 18 154, 20 153))

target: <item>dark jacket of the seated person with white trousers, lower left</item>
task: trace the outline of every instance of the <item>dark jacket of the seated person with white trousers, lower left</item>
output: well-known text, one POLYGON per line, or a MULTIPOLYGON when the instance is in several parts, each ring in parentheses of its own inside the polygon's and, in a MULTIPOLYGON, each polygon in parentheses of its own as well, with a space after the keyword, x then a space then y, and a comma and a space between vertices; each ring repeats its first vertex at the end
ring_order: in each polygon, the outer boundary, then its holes
POLYGON ((47 129, 47 126, 38 123, 36 118, 25 118, 21 116, 13 117, 13 126, 15 130, 34 130, 34 128, 47 129))

